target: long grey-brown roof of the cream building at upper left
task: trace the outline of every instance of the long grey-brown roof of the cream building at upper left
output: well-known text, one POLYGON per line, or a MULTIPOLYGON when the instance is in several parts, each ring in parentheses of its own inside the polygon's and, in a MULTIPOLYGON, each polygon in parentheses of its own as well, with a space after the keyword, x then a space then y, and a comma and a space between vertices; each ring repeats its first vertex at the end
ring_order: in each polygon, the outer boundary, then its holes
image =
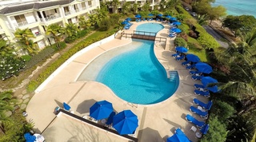
POLYGON ((50 6, 61 6, 66 5, 74 0, 60 0, 60 1, 51 1, 51 2, 34 2, 34 3, 27 3, 24 5, 15 5, 15 6, 7 6, 0 10, 0 14, 11 14, 14 12, 22 11, 22 10, 39 10, 42 8, 50 7, 50 6))

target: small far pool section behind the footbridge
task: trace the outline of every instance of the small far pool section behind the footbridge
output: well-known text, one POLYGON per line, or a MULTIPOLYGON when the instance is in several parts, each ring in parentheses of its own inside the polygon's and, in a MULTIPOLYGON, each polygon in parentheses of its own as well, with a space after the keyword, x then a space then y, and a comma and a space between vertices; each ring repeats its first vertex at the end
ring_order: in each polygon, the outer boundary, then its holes
MULTIPOLYGON (((162 30, 163 28, 164 28, 164 26, 162 26, 162 24, 149 22, 149 23, 141 24, 141 25, 137 26, 136 30, 151 32, 151 34, 146 33, 146 35, 155 36, 158 33, 158 31, 162 30)), ((137 32, 136 34, 144 34, 144 33, 137 32)))

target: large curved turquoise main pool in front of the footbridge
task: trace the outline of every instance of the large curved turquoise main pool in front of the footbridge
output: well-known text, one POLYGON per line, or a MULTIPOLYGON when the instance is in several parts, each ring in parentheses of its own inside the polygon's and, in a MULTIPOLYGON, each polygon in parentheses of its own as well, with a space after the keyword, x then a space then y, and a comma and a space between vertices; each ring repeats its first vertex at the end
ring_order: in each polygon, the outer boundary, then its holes
POLYGON ((154 55, 154 41, 134 40, 131 45, 138 46, 112 57, 95 80, 134 104, 150 105, 171 97, 178 88, 178 73, 167 78, 166 70, 154 55))

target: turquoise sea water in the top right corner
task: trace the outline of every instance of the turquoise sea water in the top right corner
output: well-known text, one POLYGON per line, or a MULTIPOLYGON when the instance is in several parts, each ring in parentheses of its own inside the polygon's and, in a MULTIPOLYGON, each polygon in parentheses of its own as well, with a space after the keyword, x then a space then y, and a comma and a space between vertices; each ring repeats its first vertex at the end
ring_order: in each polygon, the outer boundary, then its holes
POLYGON ((229 15, 253 15, 256 18, 255 0, 215 0, 212 6, 224 6, 229 15))

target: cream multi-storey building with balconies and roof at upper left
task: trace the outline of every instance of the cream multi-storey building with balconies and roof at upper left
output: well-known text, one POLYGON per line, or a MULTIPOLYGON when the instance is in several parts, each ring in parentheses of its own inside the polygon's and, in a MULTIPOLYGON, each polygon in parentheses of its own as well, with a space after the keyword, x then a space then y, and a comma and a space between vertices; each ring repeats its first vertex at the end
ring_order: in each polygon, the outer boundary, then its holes
POLYGON ((34 43, 42 49, 54 44, 50 35, 46 35, 46 26, 78 24, 79 16, 88 18, 97 8, 99 0, 6 0, 0 2, 0 37, 14 42, 14 32, 28 28, 34 34, 34 43))

